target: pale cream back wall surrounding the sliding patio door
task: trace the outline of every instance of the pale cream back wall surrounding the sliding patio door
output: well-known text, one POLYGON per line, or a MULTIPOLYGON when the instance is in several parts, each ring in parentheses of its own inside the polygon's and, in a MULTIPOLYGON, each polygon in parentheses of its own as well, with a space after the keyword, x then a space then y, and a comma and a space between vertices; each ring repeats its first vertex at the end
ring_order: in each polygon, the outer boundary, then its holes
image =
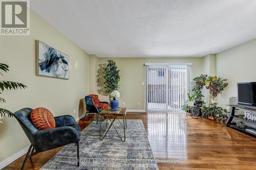
MULTIPOLYGON (((202 58, 99 58, 99 64, 107 63, 113 59, 120 69, 120 93, 119 104, 125 103, 127 109, 145 110, 145 66, 144 63, 192 63, 190 77, 194 78, 202 74, 202 58), (137 106, 140 103, 140 106, 137 106)), ((102 84, 102 82, 99 82, 102 84)), ((100 96, 101 100, 108 98, 100 96)))

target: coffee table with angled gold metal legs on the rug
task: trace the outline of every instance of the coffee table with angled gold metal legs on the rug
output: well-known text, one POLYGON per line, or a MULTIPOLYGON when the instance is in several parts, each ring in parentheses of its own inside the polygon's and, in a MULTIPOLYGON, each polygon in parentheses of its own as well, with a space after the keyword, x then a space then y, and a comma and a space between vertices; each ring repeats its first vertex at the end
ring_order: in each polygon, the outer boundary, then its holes
POLYGON ((101 112, 99 112, 100 120, 102 120, 102 116, 107 117, 106 118, 106 130, 103 134, 103 137, 101 137, 101 124, 102 121, 100 121, 100 128, 99 128, 99 139, 103 140, 106 136, 106 134, 109 132, 110 128, 113 126, 114 129, 116 130, 116 133, 118 134, 119 138, 121 139, 121 141, 125 141, 125 129, 127 128, 127 124, 126 124, 126 107, 120 107, 118 111, 111 111, 111 108, 105 108, 104 110, 102 110, 101 112), (114 119, 111 119, 110 116, 114 116, 114 119), (117 116, 123 116, 123 124, 120 122, 119 118, 117 116), (111 124, 108 127, 108 119, 110 120, 111 124), (123 138, 120 136, 120 134, 118 133, 114 122, 115 120, 118 120, 118 122, 121 124, 122 128, 123 128, 123 138))

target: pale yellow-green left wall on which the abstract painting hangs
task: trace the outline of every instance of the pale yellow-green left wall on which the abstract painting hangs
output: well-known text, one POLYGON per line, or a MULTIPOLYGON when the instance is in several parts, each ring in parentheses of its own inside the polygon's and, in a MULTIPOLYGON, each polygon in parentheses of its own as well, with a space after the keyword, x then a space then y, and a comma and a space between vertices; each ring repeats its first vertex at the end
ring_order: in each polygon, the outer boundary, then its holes
MULTIPOLYGON (((10 66, 10 71, 4 73, 1 80, 28 86, 22 90, 4 91, 1 97, 7 103, 1 104, 1 108, 15 112, 24 107, 46 107, 54 116, 71 114, 77 118, 79 100, 89 92, 89 55, 33 11, 30 12, 30 19, 30 36, 0 36, 0 62, 10 66), (35 75, 35 40, 45 42, 69 56, 70 80, 35 75), (76 109, 75 114, 73 109, 76 109)), ((30 144, 14 117, 2 120, 0 162, 30 144)))

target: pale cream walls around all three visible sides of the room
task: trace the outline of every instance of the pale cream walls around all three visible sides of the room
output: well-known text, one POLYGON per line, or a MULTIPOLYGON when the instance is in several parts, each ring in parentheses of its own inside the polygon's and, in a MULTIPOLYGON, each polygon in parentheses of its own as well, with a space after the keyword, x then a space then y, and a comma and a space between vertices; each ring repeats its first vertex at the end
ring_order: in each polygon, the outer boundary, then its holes
MULTIPOLYGON (((78 117, 78 105, 84 95, 97 92, 98 64, 109 58, 97 58, 82 51, 44 19, 31 11, 30 36, 1 36, 0 62, 10 66, 1 79, 24 83, 27 89, 5 91, 7 100, 1 107, 16 111, 24 107, 46 107, 55 116, 71 114, 78 117), (70 80, 35 76, 35 40, 45 42, 70 56, 70 80), (73 109, 76 113, 73 114, 73 109)), ((256 39, 206 58, 113 58, 120 69, 120 104, 128 109, 145 109, 145 66, 148 62, 191 62, 191 78, 200 74, 227 78, 228 87, 217 97, 221 106, 229 104, 229 98, 237 96, 237 82, 256 81, 256 39), (216 62, 216 63, 215 63, 216 62), (216 67, 215 67, 216 66, 216 67), (215 70, 216 69, 216 70, 215 70), (140 106, 137 106, 137 103, 140 106)), ((108 100, 101 96, 102 100, 108 100)), ((80 105, 79 105, 80 108, 80 105)), ((83 113, 79 111, 81 115, 83 113)), ((29 145, 29 141, 15 118, 4 118, 0 126, 0 161, 29 145)))

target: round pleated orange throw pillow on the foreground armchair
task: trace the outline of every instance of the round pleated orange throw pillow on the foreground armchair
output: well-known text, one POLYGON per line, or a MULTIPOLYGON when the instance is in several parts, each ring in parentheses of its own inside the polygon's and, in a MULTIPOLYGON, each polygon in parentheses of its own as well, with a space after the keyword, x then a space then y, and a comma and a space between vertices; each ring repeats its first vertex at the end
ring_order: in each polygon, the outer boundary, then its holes
POLYGON ((47 130, 55 128, 55 119, 52 113, 43 107, 32 110, 30 119, 32 124, 38 130, 47 130))

